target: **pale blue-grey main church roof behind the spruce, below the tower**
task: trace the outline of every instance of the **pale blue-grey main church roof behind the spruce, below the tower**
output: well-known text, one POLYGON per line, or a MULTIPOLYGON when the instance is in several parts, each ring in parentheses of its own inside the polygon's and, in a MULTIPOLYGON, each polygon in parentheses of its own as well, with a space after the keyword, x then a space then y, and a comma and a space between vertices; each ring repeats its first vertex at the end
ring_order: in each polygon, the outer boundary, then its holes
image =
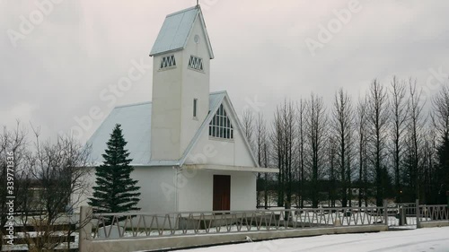
MULTIPOLYGON (((225 98, 225 91, 212 92, 209 95, 209 109, 215 111, 225 98)), ((92 145, 91 160, 94 165, 99 165, 103 161, 101 154, 106 150, 106 143, 110 139, 112 129, 116 124, 121 125, 125 140, 128 142, 129 158, 133 161, 133 166, 175 166, 181 161, 150 161, 151 158, 151 102, 136 103, 131 105, 119 106, 110 112, 110 115, 104 119, 101 126, 93 133, 87 141, 92 145)), ((207 124, 207 122, 204 122, 207 124)), ((198 130, 199 131, 199 130, 198 130)), ((196 142, 195 135, 190 143, 183 158, 188 154, 189 149, 196 142)))

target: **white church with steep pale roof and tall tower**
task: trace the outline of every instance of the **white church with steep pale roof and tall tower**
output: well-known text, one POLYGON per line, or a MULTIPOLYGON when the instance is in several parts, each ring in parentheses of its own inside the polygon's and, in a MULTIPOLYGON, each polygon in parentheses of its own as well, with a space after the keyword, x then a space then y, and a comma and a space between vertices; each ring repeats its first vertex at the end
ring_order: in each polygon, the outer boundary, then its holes
POLYGON ((93 161, 120 124, 141 211, 255 209, 257 173, 278 170, 260 168, 227 92, 209 91, 214 53, 199 5, 167 15, 150 56, 152 101, 110 112, 88 141, 93 161))

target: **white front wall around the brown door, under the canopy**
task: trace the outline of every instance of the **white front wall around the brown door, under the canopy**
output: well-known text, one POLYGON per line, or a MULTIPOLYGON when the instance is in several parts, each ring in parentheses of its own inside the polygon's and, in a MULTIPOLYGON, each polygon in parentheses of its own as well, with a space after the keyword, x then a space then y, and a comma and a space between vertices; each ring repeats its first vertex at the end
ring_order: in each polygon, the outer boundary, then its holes
POLYGON ((256 208, 256 175, 254 173, 183 169, 178 173, 179 211, 212 211, 214 175, 231 176, 231 210, 256 208))

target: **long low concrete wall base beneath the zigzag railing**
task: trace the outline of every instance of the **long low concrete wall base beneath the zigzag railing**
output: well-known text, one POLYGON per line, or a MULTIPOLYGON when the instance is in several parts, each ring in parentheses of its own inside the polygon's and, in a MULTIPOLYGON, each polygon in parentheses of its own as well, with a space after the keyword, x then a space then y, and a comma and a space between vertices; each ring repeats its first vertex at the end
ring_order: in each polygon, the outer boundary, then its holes
POLYGON ((246 237, 252 240, 281 239, 317 236, 327 234, 359 233, 386 231, 386 225, 351 226, 334 228, 317 228, 301 230, 273 230, 251 231, 239 233, 221 233, 207 235, 173 236, 160 238, 129 238, 129 239, 94 239, 86 240, 86 248, 89 252, 131 252, 137 250, 159 250, 164 248, 190 248, 207 245, 220 245, 232 242, 242 242, 246 237))

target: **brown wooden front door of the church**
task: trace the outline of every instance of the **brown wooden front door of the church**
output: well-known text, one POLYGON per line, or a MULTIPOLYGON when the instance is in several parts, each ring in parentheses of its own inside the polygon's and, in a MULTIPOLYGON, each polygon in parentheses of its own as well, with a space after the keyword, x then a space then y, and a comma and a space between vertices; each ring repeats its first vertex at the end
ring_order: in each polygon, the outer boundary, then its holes
POLYGON ((214 211, 231 210, 231 176, 214 175, 214 211))

